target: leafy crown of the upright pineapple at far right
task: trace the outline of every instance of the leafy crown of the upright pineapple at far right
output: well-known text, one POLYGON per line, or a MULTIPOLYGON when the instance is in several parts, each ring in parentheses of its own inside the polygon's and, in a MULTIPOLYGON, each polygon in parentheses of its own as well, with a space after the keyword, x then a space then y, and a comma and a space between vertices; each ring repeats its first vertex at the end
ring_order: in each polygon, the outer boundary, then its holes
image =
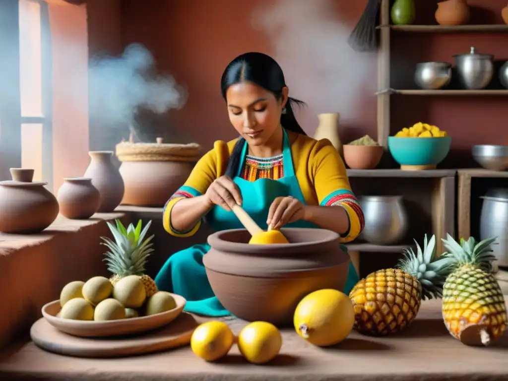
POLYGON ((441 240, 444 248, 447 249, 442 257, 452 260, 452 271, 461 266, 470 265, 489 273, 492 272, 492 262, 496 260, 496 257, 492 254, 491 245, 497 244, 495 242, 497 237, 489 237, 478 243, 473 237, 467 240, 461 238, 458 243, 450 234, 447 234, 447 239, 441 240))

